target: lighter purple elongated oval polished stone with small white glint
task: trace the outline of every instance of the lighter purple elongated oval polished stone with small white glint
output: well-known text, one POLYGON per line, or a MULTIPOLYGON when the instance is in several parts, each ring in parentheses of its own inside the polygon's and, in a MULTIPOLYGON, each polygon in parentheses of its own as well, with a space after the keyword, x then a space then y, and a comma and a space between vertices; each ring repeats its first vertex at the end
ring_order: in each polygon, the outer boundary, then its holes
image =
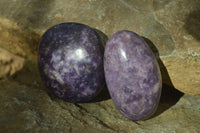
POLYGON ((161 73, 156 58, 137 34, 119 31, 106 43, 104 71, 117 109, 134 121, 149 118, 161 94, 161 73))

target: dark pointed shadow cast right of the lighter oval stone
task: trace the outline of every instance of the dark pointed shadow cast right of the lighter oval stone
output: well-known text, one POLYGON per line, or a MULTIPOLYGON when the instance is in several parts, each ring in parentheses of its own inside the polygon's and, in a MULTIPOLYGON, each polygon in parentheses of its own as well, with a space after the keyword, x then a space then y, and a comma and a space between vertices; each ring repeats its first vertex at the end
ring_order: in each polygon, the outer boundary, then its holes
POLYGON ((168 71, 159 57, 159 51, 156 48, 156 46, 148 38, 142 38, 149 45, 154 55, 156 56, 157 62, 160 67, 163 83, 160 102, 158 104, 156 112, 153 114, 153 116, 150 117, 152 118, 160 115, 161 113, 175 105, 179 101, 179 99, 184 95, 184 93, 174 88, 174 85, 172 84, 171 79, 169 77, 168 71))

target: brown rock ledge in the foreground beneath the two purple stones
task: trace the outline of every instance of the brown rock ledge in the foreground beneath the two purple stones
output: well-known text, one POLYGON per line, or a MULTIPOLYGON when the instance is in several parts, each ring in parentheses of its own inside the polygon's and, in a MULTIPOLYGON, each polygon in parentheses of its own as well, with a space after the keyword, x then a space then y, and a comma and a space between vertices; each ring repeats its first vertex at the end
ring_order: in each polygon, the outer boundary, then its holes
POLYGON ((169 86, 163 87, 155 115, 134 123, 118 112, 106 91, 82 104, 48 95, 36 68, 27 63, 12 78, 0 81, 0 132, 199 132, 200 99, 169 86))

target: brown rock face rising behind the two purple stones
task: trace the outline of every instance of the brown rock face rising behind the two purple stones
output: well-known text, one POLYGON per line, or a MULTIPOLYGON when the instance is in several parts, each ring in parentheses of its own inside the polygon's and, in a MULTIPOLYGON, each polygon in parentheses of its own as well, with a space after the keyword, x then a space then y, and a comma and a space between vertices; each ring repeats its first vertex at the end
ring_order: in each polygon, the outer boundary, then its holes
POLYGON ((36 59, 41 35, 63 22, 83 23, 108 37, 132 30, 156 46, 163 82, 200 97, 198 0, 1 0, 0 10, 0 47, 12 53, 36 59))

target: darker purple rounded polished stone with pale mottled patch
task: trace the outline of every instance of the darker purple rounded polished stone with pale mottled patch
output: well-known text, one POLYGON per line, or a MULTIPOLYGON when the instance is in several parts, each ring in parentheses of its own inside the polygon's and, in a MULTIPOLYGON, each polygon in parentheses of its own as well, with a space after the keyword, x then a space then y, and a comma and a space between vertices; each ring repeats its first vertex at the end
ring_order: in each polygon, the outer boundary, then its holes
POLYGON ((42 36, 38 66, 47 88, 68 102, 94 98, 104 84, 103 45, 89 26, 62 23, 42 36))

